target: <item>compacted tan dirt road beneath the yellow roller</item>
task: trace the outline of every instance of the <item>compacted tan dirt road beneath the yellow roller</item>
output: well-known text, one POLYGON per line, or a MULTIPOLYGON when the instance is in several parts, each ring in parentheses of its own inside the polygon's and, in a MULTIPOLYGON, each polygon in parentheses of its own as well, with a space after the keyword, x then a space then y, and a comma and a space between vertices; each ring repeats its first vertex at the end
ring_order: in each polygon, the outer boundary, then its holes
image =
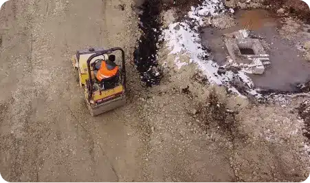
POLYGON ((69 61, 81 48, 131 41, 124 38, 131 18, 120 4, 7 2, 1 22, 0 177, 98 182, 142 177, 142 143, 127 124, 133 120, 127 116, 130 106, 91 118, 69 61))

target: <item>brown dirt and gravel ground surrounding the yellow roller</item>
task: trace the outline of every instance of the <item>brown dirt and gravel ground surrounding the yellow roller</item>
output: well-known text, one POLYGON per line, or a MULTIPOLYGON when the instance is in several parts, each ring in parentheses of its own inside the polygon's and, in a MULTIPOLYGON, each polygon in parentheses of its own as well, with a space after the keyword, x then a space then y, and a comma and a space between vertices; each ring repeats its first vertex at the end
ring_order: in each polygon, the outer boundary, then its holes
POLYGON ((144 87, 128 62, 126 106, 89 115, 69 58, 89 46, 120 46, 133 61, 141 34, 135 3, 7 1, 0 19, 0 179, 305 180, 310 172, 307 156, 300 155, 305 139, 285 136, 302 128, 298 113, 291 112, 302 99, 287 107, 248 105, 222 88, 214 93, 221 97, 203 98, 192 87, 196 81, 190 85, 184 82, 188 75, 177 72, 144 87), (243 112, 227 114, 226 108, 243 112), (226 128, 223 120, 233 126, 226 128))

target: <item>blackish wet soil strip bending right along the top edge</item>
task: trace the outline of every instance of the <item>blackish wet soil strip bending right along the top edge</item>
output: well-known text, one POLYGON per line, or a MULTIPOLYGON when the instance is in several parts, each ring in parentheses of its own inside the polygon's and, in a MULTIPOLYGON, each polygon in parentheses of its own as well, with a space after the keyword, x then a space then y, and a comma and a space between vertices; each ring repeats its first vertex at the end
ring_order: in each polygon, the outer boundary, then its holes
POLYGON ((142 81, 146 86, 159 84, 163 73, 157 63, 157 50, 162 41, 162 21, 161 13, 173 8, 177 17, 184 17, 191 6, 197 6, 202 0, 137 0, 135 12, 140 18, 139 28, 143 34, 140 36, 139 43, 133 53, 135 65, 140 72, 142 81))

